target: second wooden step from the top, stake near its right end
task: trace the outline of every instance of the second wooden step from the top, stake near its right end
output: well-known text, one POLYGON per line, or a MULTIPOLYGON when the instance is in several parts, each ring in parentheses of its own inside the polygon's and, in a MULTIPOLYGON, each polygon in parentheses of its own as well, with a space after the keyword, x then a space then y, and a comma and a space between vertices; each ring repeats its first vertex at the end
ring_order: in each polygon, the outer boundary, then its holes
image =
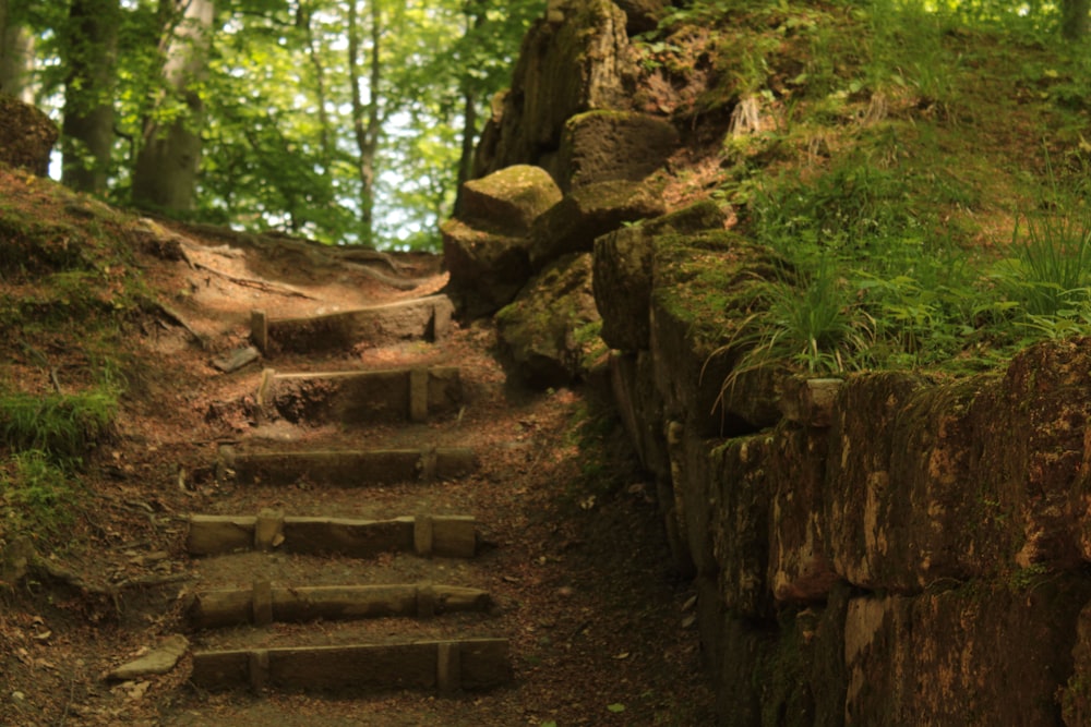
POLYGON ((293 423, 423 422, 458 411, 463 399, 455 366, 299 374, 266 368, 257 389, 259 407, 293 423))

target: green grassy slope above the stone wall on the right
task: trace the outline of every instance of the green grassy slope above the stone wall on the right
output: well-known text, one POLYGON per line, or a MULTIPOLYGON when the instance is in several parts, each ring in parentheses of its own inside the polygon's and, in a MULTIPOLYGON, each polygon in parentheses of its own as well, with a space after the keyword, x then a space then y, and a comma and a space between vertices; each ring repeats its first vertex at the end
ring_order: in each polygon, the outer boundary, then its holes
MULTIPOLYGON (((992 368, 1091 335, 1091 53, 1054 5, 696 0, 638 39, 730 117, 710 196, 784 260, 743 372, 992 368)), ((708 189, 707 179, 702 179, 708 189)), ((723 349, 720 349, 723 350, 723 349)))

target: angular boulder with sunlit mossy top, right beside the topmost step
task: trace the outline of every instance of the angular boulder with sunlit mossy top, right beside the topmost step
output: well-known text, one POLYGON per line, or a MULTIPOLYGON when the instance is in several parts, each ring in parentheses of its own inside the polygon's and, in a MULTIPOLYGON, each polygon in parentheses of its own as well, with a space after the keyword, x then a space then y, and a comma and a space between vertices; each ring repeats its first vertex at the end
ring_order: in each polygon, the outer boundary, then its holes
POLYGON ((463 187, 459 217, 441 227, 448 292, 466 318, 511 303, 531 276, 527 233, 561 199, 542 169, 508 167, 463 187))

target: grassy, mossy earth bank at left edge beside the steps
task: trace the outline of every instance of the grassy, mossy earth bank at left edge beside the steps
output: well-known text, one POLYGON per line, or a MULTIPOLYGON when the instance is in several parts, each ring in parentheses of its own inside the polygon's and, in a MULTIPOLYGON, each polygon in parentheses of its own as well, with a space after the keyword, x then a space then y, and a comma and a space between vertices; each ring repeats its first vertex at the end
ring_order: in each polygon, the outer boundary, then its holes
POLYGON ((124 215, 0 168, 0 554, 73 545, 87 464, 125 390, 151 295, 124 215))

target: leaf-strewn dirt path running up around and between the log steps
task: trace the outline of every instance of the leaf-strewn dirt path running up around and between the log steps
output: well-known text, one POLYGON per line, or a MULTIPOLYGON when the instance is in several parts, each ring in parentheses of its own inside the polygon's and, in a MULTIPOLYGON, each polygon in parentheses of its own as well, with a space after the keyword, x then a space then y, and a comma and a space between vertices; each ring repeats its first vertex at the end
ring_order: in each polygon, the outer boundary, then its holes
MULTIPOLYGON (((363 263, 315 258, 298 246, 225 246, 185 235, 185 259, 147 270, 157 289, 175 291, 167 303, 177 320, 146 327, 140 341, 148 358, 146 376, 131 381, 134 396, 117 446, 104 453, 116 476, 99 483, 109 506, 95 525, 107 542, 97 567, 113 568, 121 579, 153 575, 148 580, 159 584, 125 591, 124 613, 113 623, 110 617, 106 623, 81 625, 71 618, 74 607, 39 608, 33 596, 12 604, 37 608, 46 614, 39 617, 43 623, 65 633, 63 644, 56 637, 33 644, 50 655, 53 669, 44 670, 34 687, 14 684, 23 694, 15 712, 22 724, 711 724, 692 592, 675 580, 668 562, 651 500, 655 486, 634 468, 613 420, 587 399, 588 392, 508 387, 491 355, 493 331, 484 324, 454 324, 435 341, 355 341, 322 353, 271 350, 256 363, 221 373, 209 361, 250 344, 253 308, 277 318, 410 300, 441 290, 444 275, 440 260, 429 256, 403 256, 397 270, 369 264, 413 281, 403 290, 407 286, 385 284, 362 269, 363 263), (325 384, 285 395, 295 397, 295 409, 271 405, 259 396, 269 367, 305 373, 439 366, 457 369, 457 400, 447 407, 429 402, 428 415, 416 417, 420 421, 389 412, 372 421, 331 414, 312 405, 325 384), (333 480, 304 470, 281 484, 240 474, 242 460, 259 452, 429 452, 435 447, 471 449, 476 468, 457 476, 393 477, 379 484, 358 482, 368 478, 367 468, 359 477, 333 480), (238 461, 225 461, 225 453, 238 461), (315 555, 290 552, 289 534, 265 553, 202 557, 189 552, 190 514, 255 516, 263 509, 289 519, 469 516, 477 523, 477 547, 472 557, 457 558, 422 557, 416 546, 368 557, 335 549, 315 555), (433 618, 193 626, 193 604, 204 594, 251 589, 255 582, 297 590, 448 584, 487 592, 489 608, 433 618), (101 679, 179 633, 190 650, 170 673, 120 683, 101 679), (483 690, 461 690, 456 683, 442 695, 434 687, 344 684, 327 693, 278 688, 274 667, 256 690, 220 690, 215 679, 209 684, 195 670, 201 658, 195 655, 213 651, 272 653, 288 646, 471 638, 506 641, 504 683, 483 690), (57 666, 62 656, 77 668, 57 666), (68 688, 63 711, 35 707, 34 690, 49 684, 68 688)), ((323 396, 337 402, 350 395, 323 396)), ((463 653, 468 674, 469 652, 463 653)))

